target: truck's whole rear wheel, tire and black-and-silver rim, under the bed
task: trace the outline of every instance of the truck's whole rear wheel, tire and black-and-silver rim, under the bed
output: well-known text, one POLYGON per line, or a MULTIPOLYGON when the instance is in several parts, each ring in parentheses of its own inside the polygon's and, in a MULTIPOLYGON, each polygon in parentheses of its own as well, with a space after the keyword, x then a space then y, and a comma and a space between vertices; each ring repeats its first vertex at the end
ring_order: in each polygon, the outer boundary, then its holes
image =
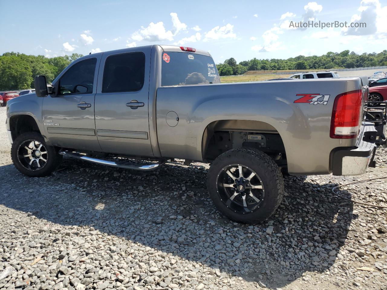
POLYGON ((284 180, 277 164, 253 148, 235 148, 211 164, 207 177, 217 209, 236 222, 266 220, 281 203, 284 180))

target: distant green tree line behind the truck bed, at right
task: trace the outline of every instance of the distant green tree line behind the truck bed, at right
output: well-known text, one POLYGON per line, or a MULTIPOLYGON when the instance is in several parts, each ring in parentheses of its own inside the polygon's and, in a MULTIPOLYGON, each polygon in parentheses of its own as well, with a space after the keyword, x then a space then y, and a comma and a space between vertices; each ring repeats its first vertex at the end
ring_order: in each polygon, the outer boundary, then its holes
POLYGON ((286 60, 272 58, 271 60, 244 60, 237 63, 235 58, 229 58, 224 63, 216 65, 219 75, 241 75, 248 70, 330 70, 337 68, 378 67, 387 65, 387 50, 380 53, 363 53, 358 55, 353 51, 344 50, 341 53, 329 51, 325 55, 299 55, 286 60))

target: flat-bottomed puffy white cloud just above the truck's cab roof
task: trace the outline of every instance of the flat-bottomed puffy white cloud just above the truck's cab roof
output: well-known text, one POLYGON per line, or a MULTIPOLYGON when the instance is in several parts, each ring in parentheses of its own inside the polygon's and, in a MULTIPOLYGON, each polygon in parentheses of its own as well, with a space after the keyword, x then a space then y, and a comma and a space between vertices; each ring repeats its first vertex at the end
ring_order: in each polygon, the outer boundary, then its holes
POLYGON ((151 22, 148 27, 141 26, 141 29, 132 34, 132 39, 136 41, 172 41, 172 31, 166 31, 163 22, 157 22, 156 24, 151 22))

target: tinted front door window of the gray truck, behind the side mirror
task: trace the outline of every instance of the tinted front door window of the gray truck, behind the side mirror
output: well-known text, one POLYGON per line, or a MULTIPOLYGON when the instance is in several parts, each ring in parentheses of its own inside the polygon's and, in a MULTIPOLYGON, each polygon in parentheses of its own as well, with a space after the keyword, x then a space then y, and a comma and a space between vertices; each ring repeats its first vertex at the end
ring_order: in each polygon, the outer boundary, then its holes
POLYGON ((59 80, 59 94, 91 94, 96 63, 96 58, 90 58, 70 67, 59 80))

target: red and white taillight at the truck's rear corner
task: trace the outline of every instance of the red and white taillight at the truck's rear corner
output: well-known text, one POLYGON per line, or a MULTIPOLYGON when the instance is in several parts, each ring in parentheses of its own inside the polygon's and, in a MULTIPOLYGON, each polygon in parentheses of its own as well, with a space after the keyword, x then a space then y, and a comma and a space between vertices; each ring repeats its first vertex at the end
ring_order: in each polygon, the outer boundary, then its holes
POLYGON ((356 138, 361 125, 362 90, 339 94, 333 104, 330 138, 356 138))

